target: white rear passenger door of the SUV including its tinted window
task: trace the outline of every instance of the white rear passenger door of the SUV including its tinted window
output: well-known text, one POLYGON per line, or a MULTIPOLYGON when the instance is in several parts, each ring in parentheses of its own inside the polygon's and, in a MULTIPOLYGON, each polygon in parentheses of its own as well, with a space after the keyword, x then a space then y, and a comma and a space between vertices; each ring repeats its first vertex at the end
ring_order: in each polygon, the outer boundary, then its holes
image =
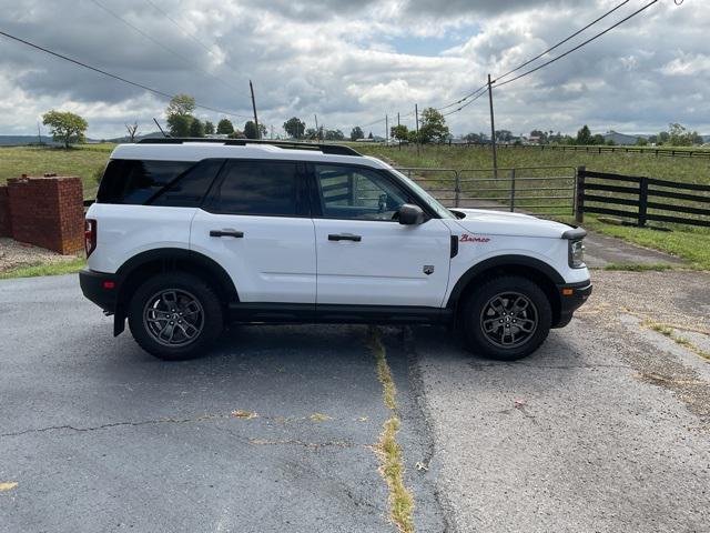
POLYGON ((241 302, 315 303, 305 164, 227 160, 192 221, 190 248, 221 264, 241 302))

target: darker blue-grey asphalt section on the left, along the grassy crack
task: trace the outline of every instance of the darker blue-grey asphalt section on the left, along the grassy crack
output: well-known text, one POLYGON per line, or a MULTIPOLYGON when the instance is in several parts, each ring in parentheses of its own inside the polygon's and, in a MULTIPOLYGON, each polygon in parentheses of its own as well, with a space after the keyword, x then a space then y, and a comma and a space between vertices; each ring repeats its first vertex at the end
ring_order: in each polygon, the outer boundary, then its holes
MULTIPOLYGON (((0 531, 396 531, 365 328, 244 326, 166 364, 58 276, 0 282, 0 483, 18 483, 0 531)), ((388 358, 414 405, 404 352, 388 358)), ((407 413, 406 454, 423 456, 407 413)), ((442 531, 427 480, 407 482, 442 531)))

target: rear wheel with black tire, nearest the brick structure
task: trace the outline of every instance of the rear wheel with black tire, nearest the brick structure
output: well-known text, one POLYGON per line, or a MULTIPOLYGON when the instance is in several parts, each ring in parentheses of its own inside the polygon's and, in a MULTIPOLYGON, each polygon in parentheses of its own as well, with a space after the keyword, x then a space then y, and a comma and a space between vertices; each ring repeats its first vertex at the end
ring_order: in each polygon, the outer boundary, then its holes
POLYGON ((222 305, 212 288, 185 272, 148 279, 133 293, 128 318, 139 345, 165 361, 202 355, 223 328, 222 305))

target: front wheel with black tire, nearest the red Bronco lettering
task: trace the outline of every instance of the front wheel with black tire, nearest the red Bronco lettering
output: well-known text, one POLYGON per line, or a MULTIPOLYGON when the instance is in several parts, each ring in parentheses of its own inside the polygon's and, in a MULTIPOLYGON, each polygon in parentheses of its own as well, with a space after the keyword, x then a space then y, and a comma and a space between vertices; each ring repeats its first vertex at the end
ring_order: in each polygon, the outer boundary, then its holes
POLYGON ((459 315, 467 348, 488 359, 515 361, 539 348, 552 310, 535 282, 518 275, 493 278, 476 289, 459 315))

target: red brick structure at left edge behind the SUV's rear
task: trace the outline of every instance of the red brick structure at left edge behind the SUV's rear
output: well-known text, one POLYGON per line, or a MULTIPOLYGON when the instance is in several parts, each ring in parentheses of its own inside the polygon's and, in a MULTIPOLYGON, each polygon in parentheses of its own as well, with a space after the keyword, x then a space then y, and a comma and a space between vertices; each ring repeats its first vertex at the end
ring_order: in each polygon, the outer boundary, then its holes
MULTIPOLYGON (((11 178, 7 197, 9 229, 14 240, 65 255, 83 250, 83 191, 79 178, 11 178)), ((8 218, 7 211, 0 192, 0 221, 8 218)))

